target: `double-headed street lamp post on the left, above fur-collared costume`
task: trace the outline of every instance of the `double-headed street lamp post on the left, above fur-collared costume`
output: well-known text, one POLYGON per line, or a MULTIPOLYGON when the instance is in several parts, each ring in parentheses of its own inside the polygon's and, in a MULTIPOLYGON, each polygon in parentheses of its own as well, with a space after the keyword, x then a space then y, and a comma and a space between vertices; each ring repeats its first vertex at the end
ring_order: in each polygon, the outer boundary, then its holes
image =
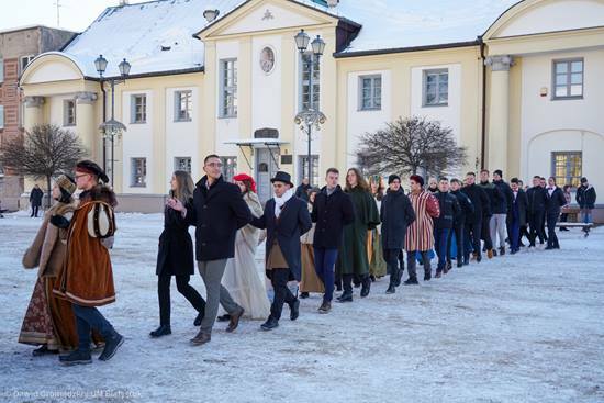
MULTIPOLYGON (((120 78, 110 77, 104 78, 103 74, 107 70, 108 61, 103 57, 103 55, 99 55, 97 59, 94 60, 94 68, 99 72, 100 81, 101 81, 101 89, 103 87, 104 81, 109 81, 111 85, 111 119, 109 121, 104 120, 103 123, 99 126, 99 128, 103 132, 103 168, 107 165, 107 156, 105 156, 105 148, 107 148, 107 139, 109 138, 111 142, 111 184, 113 186, 113 171, 114 171, 114 155, 115 155, 115 137, 120 137, 122 135, 122 132, 126 131, 126 126, 122 123, 115 120, 115 85, 123 83, 126 81, 127 76, 130 75, 130 63, 126 61, 124 58, 119 65, 118 68, 120 69, 120 78)), ((104 93, 104 91, 103 91, 104 93)), ((103 97, 103 108, 104 108, 104 97, 103 97)))

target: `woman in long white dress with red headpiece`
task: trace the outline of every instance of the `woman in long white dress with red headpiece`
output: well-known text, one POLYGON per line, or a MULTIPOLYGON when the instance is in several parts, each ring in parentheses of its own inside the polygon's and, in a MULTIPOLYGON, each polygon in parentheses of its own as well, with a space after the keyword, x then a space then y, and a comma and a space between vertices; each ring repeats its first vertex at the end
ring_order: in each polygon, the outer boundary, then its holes
MULTIPOLYGON (((246 173, 239 173, 233 180, 242 190, 251 214, 261 216, 262 205, 256 194, 254 179, 246 173)), ((267 290, 256 265, 259 237, 260 231, 251 225, 246 225, 237 231, 235 257, 226 262, 222 278, 222 284, 228 290, 235 302, 245 310, 244 317, 251 320, 266 320, 270 313, 267 290)), ((225 321, 228 320, 228 316, 223 315, 219 320, 225 321)))

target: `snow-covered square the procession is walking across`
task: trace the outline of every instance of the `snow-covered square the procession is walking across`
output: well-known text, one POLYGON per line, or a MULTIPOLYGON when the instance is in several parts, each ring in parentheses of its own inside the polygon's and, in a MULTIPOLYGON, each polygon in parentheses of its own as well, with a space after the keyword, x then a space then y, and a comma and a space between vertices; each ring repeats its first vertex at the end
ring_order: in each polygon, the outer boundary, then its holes
MULTIPOLYGON (((194 313, 172 286, 172 335, 158 324, 161 216, 120 214, 118 302, 102 312, 126 343, 110 361, 61 367, 16 337, 36 270, 21 257, 41 220, 0 219, 0 402, 602 402, 604 231, 562 233, 561 250, 521 253, 421 287, 335 304, 318 295, 270 333, 217 324, 193 347, 194 313)), ((259 257, 260 258, 260 257, 259 257)), ((260 261, 260 260, 258 260, 260 261)), ((260 270, 260 267, 259 267, 260 270)), ((199 276, 192 284, 201 289, 199 276)), ((358 295, 358 290, 355 290, 358 295)))

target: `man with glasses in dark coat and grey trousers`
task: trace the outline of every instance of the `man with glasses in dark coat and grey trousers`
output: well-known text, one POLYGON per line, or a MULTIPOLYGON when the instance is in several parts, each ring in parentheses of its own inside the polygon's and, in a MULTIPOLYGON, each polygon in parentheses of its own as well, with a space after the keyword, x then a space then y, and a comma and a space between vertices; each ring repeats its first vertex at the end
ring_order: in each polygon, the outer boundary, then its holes
POLYGON ((222 284, 226 260, 235 256, 237 230, 251 221, 251 212, 236 184, 224 181, 222 163, 212 154, 203 160, 205 176, 193 191, 193 208, 187 209, 177 199, 168 200, 168 206, 180 211, 187 222, 195 226, 195 256, 198 269, 205 283, 205 315, 200 331, 191 339, 193 345, 211 340, 212 327, 219 312, 219 303, 231 315, 226 332, 237 328, 244 310, 222 284))

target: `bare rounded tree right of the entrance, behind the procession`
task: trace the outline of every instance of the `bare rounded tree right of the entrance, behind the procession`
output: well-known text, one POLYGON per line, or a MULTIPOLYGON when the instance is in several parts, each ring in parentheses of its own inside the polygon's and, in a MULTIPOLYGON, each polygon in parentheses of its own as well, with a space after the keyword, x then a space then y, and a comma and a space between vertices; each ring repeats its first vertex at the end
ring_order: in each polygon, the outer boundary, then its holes
POLYGON ((466 164, 468 152, 452 131, 425 117, 399 117, 361 136, 357 157, 369 173, 446 175, 466 164))

